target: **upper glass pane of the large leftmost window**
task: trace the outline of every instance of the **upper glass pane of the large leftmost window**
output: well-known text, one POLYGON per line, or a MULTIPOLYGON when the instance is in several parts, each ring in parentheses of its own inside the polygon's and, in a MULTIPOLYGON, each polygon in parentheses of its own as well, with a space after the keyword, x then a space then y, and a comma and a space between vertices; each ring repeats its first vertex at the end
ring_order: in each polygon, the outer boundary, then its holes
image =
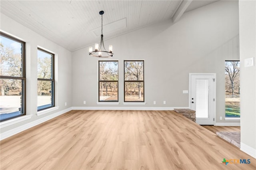
POLYGON ((22 43, 0 36, 0 72, 2 76, 22 77, 22 43))

